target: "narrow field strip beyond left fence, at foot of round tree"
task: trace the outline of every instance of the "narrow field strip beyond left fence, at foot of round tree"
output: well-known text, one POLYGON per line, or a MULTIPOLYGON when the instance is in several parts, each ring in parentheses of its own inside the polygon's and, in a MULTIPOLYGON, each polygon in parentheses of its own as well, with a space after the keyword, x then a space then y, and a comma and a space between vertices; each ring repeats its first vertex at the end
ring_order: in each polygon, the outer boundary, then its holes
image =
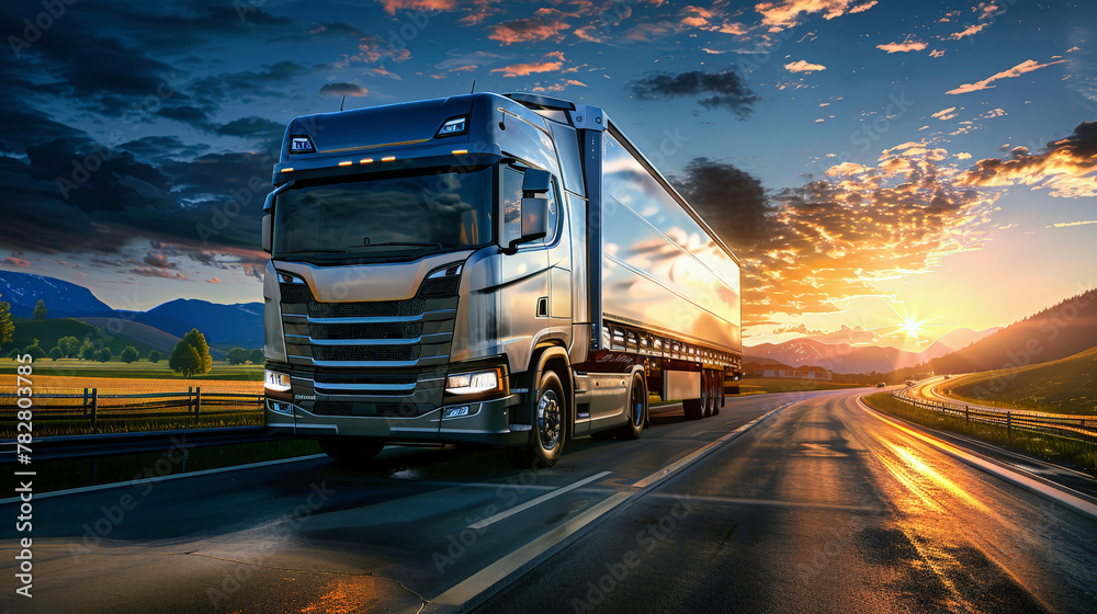
MULTIPOLYGON (((15 368, 19 366, 13 359, 0 359, 0 376, 4 375, 15 375, 15 368)), ((137 361, 134 363, 123 363, 121 361, 111 361, 106 363, 101 363, 98 361, 81 361, 78 359, 60 359, 53 361, 50 359, 43 359, 36 361, 33 365, 33 372, 35 375, 50 375, 50 376, 65 376, 65 377, 108 377, 112 379, 172 379, 183 385, 183 389, 186 386, 194 386, 195 384, 188 384, 194 379, 188 379, 170 368, 168 368, 168 360, 165 357, 158 363, 150 363, 148 361, 137 361)), ((206 380, 240 380, 240 382, 262 382, 263 380, 263 365, 230 365, 224 361, 214 361, 213 369, 210 373, 204 373, 196 379, 206 380)), ((0 383, 7 384, 0 379, 0 383)))

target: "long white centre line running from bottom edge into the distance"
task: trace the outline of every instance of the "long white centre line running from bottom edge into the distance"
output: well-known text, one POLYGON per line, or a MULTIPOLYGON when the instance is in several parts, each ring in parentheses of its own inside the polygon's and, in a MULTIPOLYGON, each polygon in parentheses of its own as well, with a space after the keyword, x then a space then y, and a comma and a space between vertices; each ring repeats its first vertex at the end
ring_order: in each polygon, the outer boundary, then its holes
MULTIPOLYGON (((659 481, 663 481, 674 471, 681 469, 689 463, 695 462, 703 454, 712 451, 713 448, 723 443, 726 443, 735 439, 736 436, 746 432, 746 430, 749 429, 750 427, 761 422, 762 420, 769 418, 773 413, 777 413, 781 409, 784 409, 795 402, 799 402, 799 400, 787 402, 767 412, 760 418, 756 418, 755 420, 747 422, 746 424, 739 427, 738 429, 735 429, 731 433, 727 433, 726 435, 720 437, 719 440, 701 447, 697 452, 693 452, 692 454, 689 454, 688 456, 675 462, 672 465, 670 465, 670 467, 659 469, 658 471, 655 471, 651 476, 647 476, 646 478, 640 480, 633 486, 637 486, 641 484, 646 486, 652 486, 659 481)), ((451 587, 442 594, 430 600, 429 601, 430 610, 432 611, 456 610, 457 606, 468 603, 470 601, 477 598, 482 593, 488 591, 499 582, 502 582, 506 578, 510 577, 511 575, 524 572, 527 566, 535 564, 539 557, 544 556, 545 553, 551 550, 553 547, 557 546, 572 535, 575 535, 590 523, 609 514, 614 509, 622 505, 625 501, 629 501, 634 497, 638 497, 644 492, 645 492, 644 490, 637 490, 632 492, 621 491, 610 494, 606 499, 602 499, 598 503, 595 503, 590 509, 586 510, 579 515, 565 521, 564 524, 561 524, 559 526, 553 528, 552 531, 545 533, 544 535, 536 537, 532 542, 525 544, 524 546, 521 546, 517 550, 500 558, 499 560, 493 562, 491 565, 485 567, 484 569, 480 569, 476 573, 473 573, 468 578, 465 578, 461 582, 457 582, 455 585, 451 587)))

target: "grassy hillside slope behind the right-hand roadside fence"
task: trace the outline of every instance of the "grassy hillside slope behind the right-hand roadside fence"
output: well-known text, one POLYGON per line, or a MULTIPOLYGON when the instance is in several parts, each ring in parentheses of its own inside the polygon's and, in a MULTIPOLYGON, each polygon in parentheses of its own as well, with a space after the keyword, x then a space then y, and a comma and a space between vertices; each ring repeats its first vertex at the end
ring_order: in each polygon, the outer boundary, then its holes
POLYGON ((984 405, 1097 414, 1097 348, 1049 363, 960 377, 942 389, 984 405))

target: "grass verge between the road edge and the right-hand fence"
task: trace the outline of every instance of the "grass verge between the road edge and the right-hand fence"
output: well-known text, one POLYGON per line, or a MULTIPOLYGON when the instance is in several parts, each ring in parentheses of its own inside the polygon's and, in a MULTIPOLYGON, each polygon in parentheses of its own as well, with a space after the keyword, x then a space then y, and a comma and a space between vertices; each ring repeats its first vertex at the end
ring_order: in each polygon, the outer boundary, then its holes
POLYGON ((863 397, 864 402, 884 413, 904 418, 930 429, 940 429, 975 437, 981 441, 1010 447, 1040 458, 1074 466, 1097 474, 1097 445, 1092 443, 1063 440, 1024 431, 1013 430, 1010 436, 1004 427, 966 422, 963 418, 945 416, 936 411, 915 407, 891 396, 891 393, 879 393, 863 397))

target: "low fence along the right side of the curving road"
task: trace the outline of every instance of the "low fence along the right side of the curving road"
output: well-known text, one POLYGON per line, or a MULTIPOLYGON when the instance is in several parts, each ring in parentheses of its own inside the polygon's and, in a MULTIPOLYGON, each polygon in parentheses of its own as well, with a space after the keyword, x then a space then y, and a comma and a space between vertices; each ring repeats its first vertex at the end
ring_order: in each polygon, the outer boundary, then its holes
POLYGON ((1097 416, 1047 413, 1024 409, 998 409, 970 403, 918 399, 912 397, 909 391, 909 387, 896 390, 892 393, 892 397, 923 409, 963 418, 968 422, 983 422, 1004 427, 1007 436, 1013 436, 1014 429, 1021 429, 1075 441, 1097 442, 1097 416))

